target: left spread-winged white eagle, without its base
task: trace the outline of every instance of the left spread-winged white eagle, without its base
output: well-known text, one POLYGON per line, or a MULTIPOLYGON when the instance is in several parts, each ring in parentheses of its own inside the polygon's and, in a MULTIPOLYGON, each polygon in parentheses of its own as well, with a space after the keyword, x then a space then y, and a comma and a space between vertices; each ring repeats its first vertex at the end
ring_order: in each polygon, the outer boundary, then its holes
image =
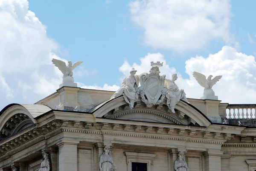
POLYGON ((72 65, 71 61, 68 61, 68 65, 64 61, 58 60, 58 59, 52 59, 52 64, 54 64, 56 67, 58 67, 59 70, 63 73, 63 78, 70 76, 73 78, 73 70, 78 67, 83 61, 75 62, 72 65))

